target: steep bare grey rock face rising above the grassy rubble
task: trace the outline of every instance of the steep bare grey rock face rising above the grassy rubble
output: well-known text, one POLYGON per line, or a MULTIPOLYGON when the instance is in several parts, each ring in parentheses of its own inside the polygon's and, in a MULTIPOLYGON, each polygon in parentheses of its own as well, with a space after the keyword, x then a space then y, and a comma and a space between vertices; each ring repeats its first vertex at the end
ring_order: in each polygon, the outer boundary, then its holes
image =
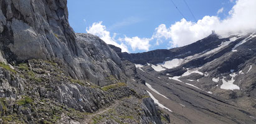
POLYGON ((121 79, 120 58, 107 44, 93 35, 76 37, 67 0, 2 0, 0 8, 1 61, 58 59, 73 78, 100 86, 111 83, 109 76, 121 79))

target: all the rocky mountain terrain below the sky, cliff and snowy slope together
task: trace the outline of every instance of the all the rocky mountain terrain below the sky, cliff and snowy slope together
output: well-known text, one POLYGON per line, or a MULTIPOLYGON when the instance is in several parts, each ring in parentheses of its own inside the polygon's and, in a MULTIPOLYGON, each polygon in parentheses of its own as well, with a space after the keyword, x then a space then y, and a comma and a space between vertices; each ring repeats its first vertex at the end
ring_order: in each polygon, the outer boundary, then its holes
POLYGON ((0 50, 0 123, 256 123, 256 33, 121 53, 67 0, 1 0, 0 50))

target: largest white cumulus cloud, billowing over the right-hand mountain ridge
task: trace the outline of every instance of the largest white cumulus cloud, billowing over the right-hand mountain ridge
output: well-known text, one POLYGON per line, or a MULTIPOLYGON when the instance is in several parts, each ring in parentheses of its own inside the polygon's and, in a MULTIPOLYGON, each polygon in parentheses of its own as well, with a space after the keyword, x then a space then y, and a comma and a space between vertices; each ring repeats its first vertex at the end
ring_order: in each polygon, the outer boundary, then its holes
POLYGON ((156 28, 153 37, 169 39, 172 47, 182 47, 207 37, 212 30, 219 35, 252 32, 256 30, 255 5, 255 0, 238 0, 224 20, 217 16, 206 15, 196 23, 181 19, 168 28, 161 24, 156 28))

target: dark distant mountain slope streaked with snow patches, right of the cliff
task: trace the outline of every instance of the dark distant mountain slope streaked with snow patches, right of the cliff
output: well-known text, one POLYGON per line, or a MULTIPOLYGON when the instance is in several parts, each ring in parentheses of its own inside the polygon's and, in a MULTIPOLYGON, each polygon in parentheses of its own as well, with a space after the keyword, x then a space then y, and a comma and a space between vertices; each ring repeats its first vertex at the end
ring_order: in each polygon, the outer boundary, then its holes
POLYGON ((135 64, 133 76, 173 111, 171 122, 255 123, 255 43, 255 33, 213 33, 170 50, 128 54, 111 48, 135 64))

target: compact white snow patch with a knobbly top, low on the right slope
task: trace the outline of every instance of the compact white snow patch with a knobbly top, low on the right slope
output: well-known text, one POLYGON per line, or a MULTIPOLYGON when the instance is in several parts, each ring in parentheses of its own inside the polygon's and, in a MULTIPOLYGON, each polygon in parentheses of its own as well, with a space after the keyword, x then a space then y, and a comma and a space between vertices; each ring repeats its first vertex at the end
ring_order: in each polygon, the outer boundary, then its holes
POLYGON ((220 86, 220 89, 227 89, 227 90, 235 90, 235 89, 238 89, 240 90, 240 87, 233 84, 235 82, 235 76, 237 76, 237 74, 235 73, 232 73, 232 74, 229 74, 232 79, 230 81, 225 81, 224 78, 222 78, 222 85, 220 86))

